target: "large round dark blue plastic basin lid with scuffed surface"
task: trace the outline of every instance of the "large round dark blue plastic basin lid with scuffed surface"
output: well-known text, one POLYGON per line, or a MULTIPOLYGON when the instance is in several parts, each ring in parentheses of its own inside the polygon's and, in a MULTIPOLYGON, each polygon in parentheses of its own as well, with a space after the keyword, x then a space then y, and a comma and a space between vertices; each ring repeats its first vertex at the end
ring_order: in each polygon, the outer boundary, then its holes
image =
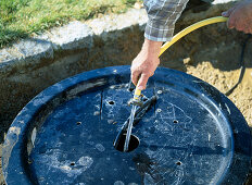
POLYGON ((160 67, 144 97, 154 106, 134 126, 136 149, 113 141, 130 114, 129 66, 86 72, 35 97, 3 147, 8 184, 243 184, 251 165, 248 124, 223 94, 160 67))

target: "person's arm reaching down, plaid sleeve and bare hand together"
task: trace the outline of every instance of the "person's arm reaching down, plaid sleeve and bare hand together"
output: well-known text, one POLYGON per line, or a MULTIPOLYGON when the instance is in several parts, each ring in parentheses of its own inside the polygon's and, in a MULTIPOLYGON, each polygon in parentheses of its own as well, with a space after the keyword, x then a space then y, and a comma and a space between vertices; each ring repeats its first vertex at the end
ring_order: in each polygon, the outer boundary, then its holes
POLYGON ((133 60, 131 81, 138 89, 144 89, 150 76, 160 64, 160 48, 173 37, 175 23, 188 0, 144 0, 149 21, 141 51, 133 60), (139 81, 138 81, 139 79, 139 81))

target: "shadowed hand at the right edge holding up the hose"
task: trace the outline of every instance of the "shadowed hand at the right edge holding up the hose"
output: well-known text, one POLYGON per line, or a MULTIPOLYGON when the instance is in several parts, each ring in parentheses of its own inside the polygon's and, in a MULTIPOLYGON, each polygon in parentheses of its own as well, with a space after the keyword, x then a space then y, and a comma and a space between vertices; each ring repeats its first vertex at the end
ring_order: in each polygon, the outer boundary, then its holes
POLYGON ((238 2, 234 8, 222 13, 223 16, 229 17, 228 28, 252 34, 252 0, 238 2))

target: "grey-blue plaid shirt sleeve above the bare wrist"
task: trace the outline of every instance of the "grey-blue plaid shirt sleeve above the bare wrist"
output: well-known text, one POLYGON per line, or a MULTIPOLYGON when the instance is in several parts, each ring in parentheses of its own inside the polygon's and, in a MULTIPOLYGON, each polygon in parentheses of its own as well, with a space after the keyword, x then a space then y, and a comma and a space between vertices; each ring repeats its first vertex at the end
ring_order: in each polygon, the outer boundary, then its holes
POLYGON ((189 0, 143 0, 148 13, 144 37, 154 41, 169 41, 175 23, 189 0))

